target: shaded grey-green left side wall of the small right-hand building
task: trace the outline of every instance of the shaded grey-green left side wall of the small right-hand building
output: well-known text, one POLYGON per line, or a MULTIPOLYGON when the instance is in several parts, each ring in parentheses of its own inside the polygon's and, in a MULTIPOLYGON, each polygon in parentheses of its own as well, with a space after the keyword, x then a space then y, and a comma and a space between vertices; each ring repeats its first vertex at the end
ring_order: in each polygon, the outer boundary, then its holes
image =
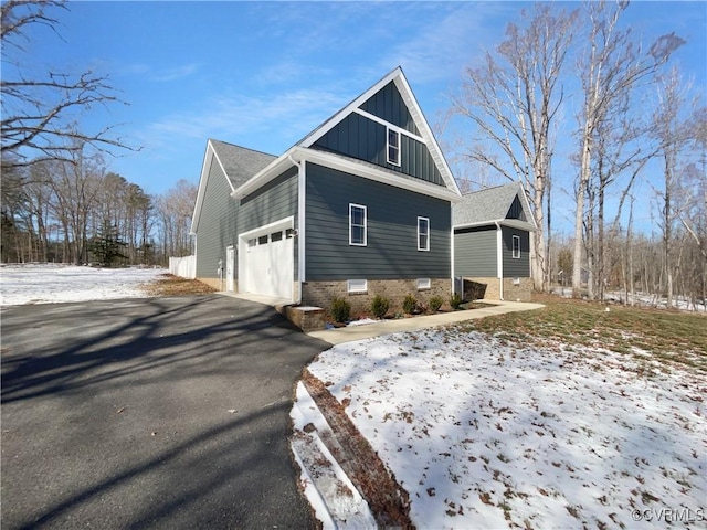
POLYGON ((497 277, 496 226, 461 229, 454 233, 454 275, 497 277))

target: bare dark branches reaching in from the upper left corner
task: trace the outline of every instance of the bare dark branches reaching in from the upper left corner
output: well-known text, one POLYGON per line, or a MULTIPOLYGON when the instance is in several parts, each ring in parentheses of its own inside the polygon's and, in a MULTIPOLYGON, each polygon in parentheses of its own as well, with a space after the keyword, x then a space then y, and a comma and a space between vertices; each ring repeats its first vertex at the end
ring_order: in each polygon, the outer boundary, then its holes
MULTIPOLYGON (((96 105, 122 103, 115 95, 108 77, 91 71, 74 75, 51 70, 32 72, 34 64, 27 53, 28 31, 46 26, 56 33, 56 9, 67 9, 61 0, 8 0, 0 4, 2 22, 2 120, 0 147, 3 169, 8 165, 21 166, 43 160, 73 158, 77 146, 91 145, 98 149, 135 148, 113 136, 114 126, 83 132, 77 127, 78 112, 96 105), (7 155, 13 153, 10 158, 7 155)), ((57 33, 56 33, 57 34, 57 33)))

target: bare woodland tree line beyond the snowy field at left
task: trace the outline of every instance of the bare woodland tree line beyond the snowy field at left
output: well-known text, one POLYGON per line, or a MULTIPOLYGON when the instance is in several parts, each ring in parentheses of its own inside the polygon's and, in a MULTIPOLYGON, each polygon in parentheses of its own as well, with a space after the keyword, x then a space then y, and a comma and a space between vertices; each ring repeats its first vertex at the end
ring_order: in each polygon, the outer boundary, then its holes
POLYGON ((191 253, 196 184, 150 195, 87 146, 71 157, 3 170, 3 263, 151 265, 191 253))

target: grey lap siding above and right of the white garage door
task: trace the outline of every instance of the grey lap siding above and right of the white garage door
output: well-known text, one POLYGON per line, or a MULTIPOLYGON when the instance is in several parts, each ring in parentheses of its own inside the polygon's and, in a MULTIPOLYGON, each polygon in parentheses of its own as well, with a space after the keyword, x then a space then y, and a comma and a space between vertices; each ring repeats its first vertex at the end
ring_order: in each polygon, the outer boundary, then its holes
MULTIPOLYGON (((274 223, 281 219, 295 216, 297 226, 297 168, 291 168, 239 201, 236 226, 238 233, 250 232, 258 226, 274 223)), ((295 279, 297 279, 297 246, 294 242, 295 279)), ((238 262, 238 256, 236 256, 238 262)), ((238 275, 238 273, 236 273, 238 275)))

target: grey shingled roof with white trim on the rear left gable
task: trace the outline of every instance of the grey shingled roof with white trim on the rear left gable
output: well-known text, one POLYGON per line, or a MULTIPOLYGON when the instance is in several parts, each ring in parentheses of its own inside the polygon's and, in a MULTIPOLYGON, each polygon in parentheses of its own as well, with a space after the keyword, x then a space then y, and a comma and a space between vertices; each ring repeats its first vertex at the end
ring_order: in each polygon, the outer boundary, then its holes
POLYGON ((253 174, 261 171, 276 158, 273 155, 209 138, 201 167, 201 177, 199 178, 199 192, 197 193, 197 204, 191 218, 190 233, 192 235, 196 234, 199 227, 203 197, 214 160, 223 171, 231 192, 233 192, 233 190, 243 186, 253 174))

